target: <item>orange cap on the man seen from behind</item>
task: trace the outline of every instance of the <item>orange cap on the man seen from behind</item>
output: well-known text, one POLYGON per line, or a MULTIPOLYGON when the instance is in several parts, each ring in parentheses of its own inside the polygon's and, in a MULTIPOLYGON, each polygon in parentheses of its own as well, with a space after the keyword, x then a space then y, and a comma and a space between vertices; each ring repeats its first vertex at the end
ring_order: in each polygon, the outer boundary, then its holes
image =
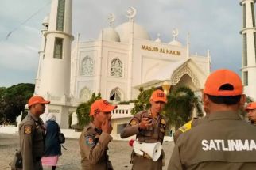
POLYGON ((231 70, 216 70, 211 73, 204 85, 204 93, 211 96, 238 96, 242 95, 242 81, 238 74, 231 70), (233 89, 220 89, 222 85, 231 85, 233 89))

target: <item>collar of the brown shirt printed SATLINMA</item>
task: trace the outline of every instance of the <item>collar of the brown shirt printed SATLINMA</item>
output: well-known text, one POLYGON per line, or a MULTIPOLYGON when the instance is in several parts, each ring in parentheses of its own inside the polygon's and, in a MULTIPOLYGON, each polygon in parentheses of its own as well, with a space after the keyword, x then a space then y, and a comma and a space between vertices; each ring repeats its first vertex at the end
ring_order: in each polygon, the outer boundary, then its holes
POLYGON ((238 111, 217 111, 208 115, 208 120, 215 119, 236 119, 241 120, 238 111))

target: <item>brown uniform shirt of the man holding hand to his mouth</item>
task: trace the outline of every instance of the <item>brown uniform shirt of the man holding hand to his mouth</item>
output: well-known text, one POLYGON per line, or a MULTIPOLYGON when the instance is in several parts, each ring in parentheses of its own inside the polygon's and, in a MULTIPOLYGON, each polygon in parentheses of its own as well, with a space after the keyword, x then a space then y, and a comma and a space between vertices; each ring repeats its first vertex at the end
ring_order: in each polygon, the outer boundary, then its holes
POLYGON ((112 169, 107 155, 107 145, 111 140, 110 134, 102 132, 93 123, 83 129, 79 139, 83 170, 112 169))

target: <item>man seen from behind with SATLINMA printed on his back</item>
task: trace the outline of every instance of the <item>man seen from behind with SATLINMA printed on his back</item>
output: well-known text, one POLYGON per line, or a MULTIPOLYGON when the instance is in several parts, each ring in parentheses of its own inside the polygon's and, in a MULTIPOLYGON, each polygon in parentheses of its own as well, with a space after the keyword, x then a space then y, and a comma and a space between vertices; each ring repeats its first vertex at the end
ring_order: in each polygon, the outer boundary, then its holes
POLYGON ((255 169, 256 128, 239 117, 246 101, 239 75, 216 70, 205 82, 202 99, 208 116, 180 135, 168 170, 255 169))

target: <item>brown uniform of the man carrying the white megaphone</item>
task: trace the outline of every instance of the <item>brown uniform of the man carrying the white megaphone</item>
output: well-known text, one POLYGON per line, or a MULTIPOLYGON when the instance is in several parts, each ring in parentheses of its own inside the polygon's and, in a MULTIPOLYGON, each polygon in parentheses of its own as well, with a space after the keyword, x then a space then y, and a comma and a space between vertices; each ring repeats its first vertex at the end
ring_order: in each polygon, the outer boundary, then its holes
MULTIPOLYGON (((140 142, 145 143, 154 143, 154 142, 163 142, 165 137, 165 117, 163 115, 158 115, 157 119, 152 119, 153 126, 148 130, 138 130, 138 123, 141 122, 143 117, 152 117, 150 111, 141 111, 138 114, 134 115, 133 119, 130 120, 130 123, 122 130, 121 138, 127 138, 136 134, 136 138, 140 142)), ((132 153, 131 164, 133 164, 133 170, 137 169, 147 169, 147 170, 159 170, 162 169, 164 159, 164 152, 162 151, 161 157, 157 161, 153 161, 148 155, 144 156, 136 155, 132 153)))

